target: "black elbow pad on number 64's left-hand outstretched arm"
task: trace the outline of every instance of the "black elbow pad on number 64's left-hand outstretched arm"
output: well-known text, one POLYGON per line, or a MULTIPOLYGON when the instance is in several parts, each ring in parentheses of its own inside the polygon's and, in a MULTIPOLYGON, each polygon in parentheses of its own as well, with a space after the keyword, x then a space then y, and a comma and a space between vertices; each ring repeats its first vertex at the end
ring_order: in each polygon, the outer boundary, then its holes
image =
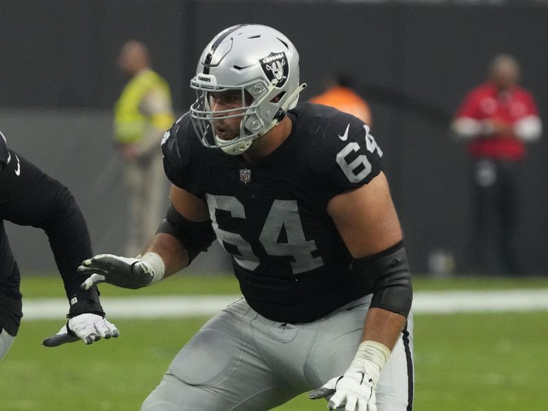
POLYGON ((160 227, 156 231, 156 234, 159 233, 171 234, 182 242, 188 253, 188 264, 201 251, 206 251, 216 238, 211 221, 196 223, 187 220, 173 206, 169 206, 166 217, 160 223, 160 227))

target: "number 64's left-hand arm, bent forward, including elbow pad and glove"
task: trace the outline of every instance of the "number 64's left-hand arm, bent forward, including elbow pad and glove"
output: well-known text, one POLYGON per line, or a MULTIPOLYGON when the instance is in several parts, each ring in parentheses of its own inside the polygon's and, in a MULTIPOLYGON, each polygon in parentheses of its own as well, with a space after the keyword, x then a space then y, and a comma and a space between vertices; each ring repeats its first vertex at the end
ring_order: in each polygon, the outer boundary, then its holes
POLYGON ((138 258, 99 254, 82 263, 88 275, 86 289, 101 282, 123 288, 141 288, 184 269, 215 239, 208 207, 190 192, 171 187, 171 207, 158 232, 138 258))

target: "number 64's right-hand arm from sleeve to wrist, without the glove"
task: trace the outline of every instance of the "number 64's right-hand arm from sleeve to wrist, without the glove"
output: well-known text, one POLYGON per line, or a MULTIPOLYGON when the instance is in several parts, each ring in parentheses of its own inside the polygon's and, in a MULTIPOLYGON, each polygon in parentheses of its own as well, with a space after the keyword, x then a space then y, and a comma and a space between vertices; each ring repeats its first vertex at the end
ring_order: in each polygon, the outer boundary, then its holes
POLYGON ((354 258, 353 264, 371 277, 375 286, 364 340, 392 349, 406 324, 412 290, 405 251, 401 251, 401 227, 384 173, 334 197, 327 210, 354 258), (393 272, 392 265, 404 272, 393 272))

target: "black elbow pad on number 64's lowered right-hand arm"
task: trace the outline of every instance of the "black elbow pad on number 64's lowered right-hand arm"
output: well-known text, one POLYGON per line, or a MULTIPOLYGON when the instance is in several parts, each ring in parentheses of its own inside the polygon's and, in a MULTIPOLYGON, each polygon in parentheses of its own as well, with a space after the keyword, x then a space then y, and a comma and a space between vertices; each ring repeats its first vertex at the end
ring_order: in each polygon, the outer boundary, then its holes
POLYGON ((371 308, 383 308, 408 316, 411 310, 413 289, 411 274, 403 242, 373 256, 354 260, 373 288, 371 308))

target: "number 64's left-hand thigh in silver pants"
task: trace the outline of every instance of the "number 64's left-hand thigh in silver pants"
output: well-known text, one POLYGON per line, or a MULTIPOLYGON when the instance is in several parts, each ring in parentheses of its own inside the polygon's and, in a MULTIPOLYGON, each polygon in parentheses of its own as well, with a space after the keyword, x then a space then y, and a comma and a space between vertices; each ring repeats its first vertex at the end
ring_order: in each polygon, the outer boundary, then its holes
POLYGON ((238 301, 208 321, 175 357, 142 411, 268 410, 297 395, 258 354, 249 309, 238 301))

